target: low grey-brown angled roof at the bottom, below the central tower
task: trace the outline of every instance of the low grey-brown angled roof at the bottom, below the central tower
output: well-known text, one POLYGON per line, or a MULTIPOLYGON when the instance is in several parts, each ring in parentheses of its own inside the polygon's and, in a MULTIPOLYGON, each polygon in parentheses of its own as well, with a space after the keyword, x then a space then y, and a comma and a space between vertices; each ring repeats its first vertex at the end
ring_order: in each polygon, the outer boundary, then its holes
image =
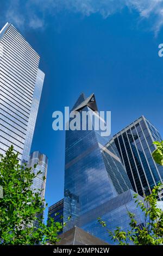
POLYGON ((108 243, 93 236, 81 228, 73 227, 59 236, 57 245, 108 245, 108 243))

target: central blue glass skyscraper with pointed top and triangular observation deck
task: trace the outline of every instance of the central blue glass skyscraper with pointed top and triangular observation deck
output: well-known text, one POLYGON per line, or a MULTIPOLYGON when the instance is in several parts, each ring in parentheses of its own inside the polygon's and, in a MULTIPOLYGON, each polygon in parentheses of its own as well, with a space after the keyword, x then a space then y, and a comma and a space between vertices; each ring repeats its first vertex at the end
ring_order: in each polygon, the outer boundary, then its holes
MULTIPOLYGON (((74 111, 80 114, 81 120, 83 112, 90 111, 88 115, 95 114, 104 121, 98 115, 94 94, 87 99, 81 94, 74 111)), ((108 138, 102 137, 100 130, 66 130, 64 222, 67 225, 64 231, 76 225, 112 244, 106 229, 97 222, 98 217, 111 230, 118 226, 129 228, 127 210, 135 213, 139 223, 144 220, 134 203, 134 191, 115 143, 106 142, 108 138), (67 222, 68 216, 71 220, 67 222)))

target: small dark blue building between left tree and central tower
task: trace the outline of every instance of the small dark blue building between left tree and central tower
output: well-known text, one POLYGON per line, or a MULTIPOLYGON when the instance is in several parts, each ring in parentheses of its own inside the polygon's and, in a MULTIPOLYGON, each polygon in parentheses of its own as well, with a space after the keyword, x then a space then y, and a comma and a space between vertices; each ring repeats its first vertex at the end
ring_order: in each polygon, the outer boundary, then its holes
MULTIPOLYGON (((64 216, 64 199, 61 199, 59 202, 49 206, 48 208, 48 217, 54 219, 55 222, 60 222, 63 224, 63 216, 64 216)), ((59 234, 61 234, 59 232, 59 234)))

